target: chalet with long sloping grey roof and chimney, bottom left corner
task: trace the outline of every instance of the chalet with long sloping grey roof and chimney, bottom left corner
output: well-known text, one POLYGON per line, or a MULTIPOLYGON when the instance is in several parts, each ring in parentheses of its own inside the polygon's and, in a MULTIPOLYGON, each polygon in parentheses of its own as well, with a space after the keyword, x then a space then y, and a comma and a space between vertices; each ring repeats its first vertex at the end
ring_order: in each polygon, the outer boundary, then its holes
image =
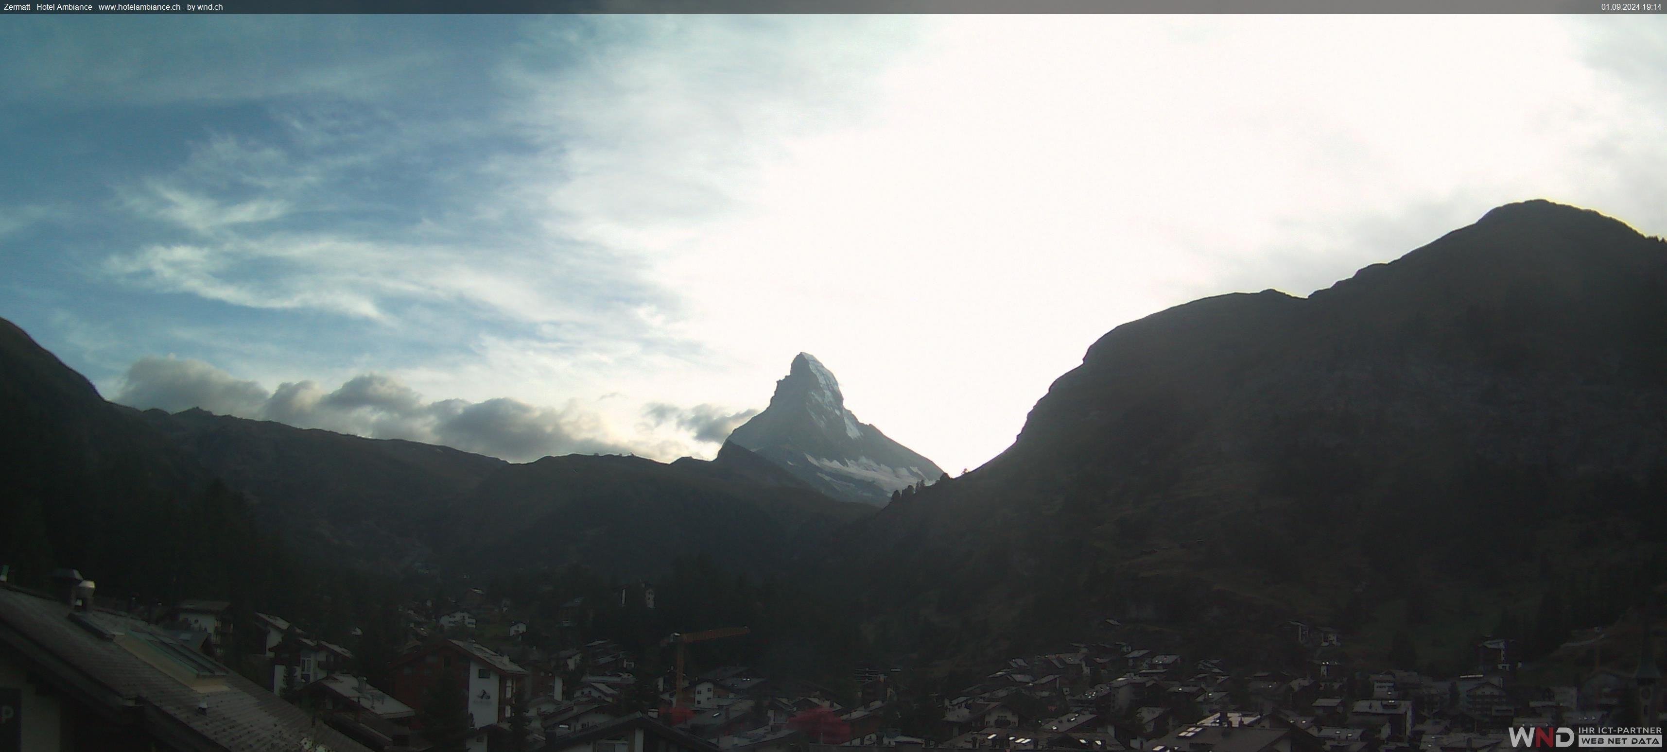
POLYGON ((92 607, 92 584, 78 587, 77 607, 0 584, 0 729, 15 734, 0 747, 367 752, 158 629, 92 607))

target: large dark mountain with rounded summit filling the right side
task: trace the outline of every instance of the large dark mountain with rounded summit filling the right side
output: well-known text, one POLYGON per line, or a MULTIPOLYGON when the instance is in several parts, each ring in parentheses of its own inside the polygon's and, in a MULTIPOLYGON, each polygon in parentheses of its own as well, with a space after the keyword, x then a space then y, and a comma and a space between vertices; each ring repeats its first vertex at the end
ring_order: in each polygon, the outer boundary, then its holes
POLYGON ((1419 654, 1462 660, 1502 609, 1654 584, 1664 544, 1667 243, 1527 202, 1309 298, 1114 328, 1007 452, 830 562, 924 650, 1107 617, 1247 659, 1287 619, 1379 650, 1419 610, 1419 654))

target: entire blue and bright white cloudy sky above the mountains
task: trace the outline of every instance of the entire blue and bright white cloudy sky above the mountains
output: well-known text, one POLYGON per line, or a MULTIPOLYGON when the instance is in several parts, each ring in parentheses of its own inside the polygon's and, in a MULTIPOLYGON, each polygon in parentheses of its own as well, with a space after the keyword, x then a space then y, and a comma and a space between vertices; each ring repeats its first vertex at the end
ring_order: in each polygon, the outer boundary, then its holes
POLYGON ((1667 18, 5 17, 0 317, 107 399, 950 472, 1119 323, 1489 208, 1667 233, 1667 18))

